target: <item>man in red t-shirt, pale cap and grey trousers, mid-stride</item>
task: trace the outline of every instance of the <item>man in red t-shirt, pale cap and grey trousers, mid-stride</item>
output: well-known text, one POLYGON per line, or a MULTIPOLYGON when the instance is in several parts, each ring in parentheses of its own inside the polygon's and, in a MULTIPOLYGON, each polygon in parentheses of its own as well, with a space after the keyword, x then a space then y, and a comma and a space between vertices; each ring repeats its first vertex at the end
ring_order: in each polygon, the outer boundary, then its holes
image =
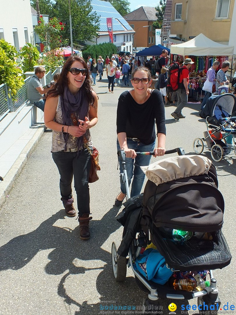
POLYGON ((174 117, 176 120, 179 118, 185 118, 182 114, 182 109, 188 103, 188 83, 189 83, 189 69, 191 68, 194 62, 191 58, 186 58, 183 67, 179 70, 179 80, 178 80, 178 89, 177 89, 177 96, 178 96, 178 103, 177 108, 174 112, 171 113, 171 116, 174 117))

